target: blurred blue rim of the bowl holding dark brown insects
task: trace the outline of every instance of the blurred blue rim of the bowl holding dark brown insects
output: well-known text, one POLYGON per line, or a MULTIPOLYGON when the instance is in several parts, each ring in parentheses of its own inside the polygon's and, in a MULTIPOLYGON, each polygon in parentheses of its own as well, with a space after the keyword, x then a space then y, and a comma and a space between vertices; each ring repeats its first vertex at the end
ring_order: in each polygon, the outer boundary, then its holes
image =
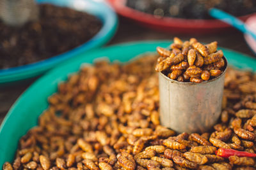
POLYGON ((79 53, 86 52, 93 48, 102 46, 113 37, 118 25, 118 18, 109 4, 105 2, 97 2, 93 0, 36 0, 37 3, 50 3, 57 6, 67 6, 75 8, 79 11, 85 11, 91 15, 95 15, 102 22, 102 28, 92 39, 86 41, 80 46, 69 50, 68 52, 55 55, 49 59, 40 60, 35 63, 26 64, 24 66, 10 67, 8 69, 0 69, 0 84, 10 83, 13 81, 25 80, 45 73, 52 67, 72 59, 79 53))

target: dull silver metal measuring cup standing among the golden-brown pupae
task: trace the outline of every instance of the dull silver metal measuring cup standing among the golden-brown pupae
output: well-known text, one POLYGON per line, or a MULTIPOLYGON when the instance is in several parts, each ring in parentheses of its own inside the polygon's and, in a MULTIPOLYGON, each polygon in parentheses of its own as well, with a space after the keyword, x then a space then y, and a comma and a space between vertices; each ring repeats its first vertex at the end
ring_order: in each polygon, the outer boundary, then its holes
POLYGON ((202 83, 172 80, 159 72, 160 121, 165 127, 181 132, 206 132, 221 113, 223 73, 202 83))

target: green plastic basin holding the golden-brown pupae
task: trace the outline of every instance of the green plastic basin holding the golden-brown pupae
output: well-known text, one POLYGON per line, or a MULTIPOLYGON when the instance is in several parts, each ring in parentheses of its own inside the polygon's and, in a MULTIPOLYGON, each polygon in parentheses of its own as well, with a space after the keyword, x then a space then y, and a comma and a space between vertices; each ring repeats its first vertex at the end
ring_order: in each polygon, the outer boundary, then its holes
MULTIPOLYGON (((69 74, 79 71, 82 63, 91 64, 94 59, 103 56, 108 56, 111 62, 127 62, 136 55, 155 52, 157 46, 167 47, 170 43, 171 41, 141 41, 99 48, 83 53, 42 76, 17 99, 4 118, 0 128, 0 166, 6 161, 13 161, 20 137, 37 124, 39 115, 47 108, 47 97, 56 92, 60 81, 67 80, 69 74)), ((256 71, 255 59, 232 50, 221 49, 230 65, 256 71)))

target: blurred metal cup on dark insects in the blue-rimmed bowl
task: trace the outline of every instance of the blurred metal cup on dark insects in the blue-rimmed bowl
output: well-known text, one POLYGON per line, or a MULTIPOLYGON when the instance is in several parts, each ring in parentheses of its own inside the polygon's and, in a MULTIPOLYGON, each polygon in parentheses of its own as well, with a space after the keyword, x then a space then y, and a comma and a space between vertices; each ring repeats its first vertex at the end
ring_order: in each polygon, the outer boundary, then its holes
POLYGON ((38 19, 34 0, 0 0, 0 18, 7 25, 21 26, 38 19))

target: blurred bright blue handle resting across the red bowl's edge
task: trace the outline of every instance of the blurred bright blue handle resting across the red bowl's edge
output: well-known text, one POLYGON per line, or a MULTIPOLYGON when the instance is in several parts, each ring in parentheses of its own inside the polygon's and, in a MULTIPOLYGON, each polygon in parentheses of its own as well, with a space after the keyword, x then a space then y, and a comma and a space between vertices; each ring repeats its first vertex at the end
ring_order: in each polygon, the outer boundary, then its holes
POLYGON ((209 15, 211 15, 211 17, 219 19, 227 24, 232 25, 233 27, 235 27, 239 31, 243 32, 244 34, 249 34, 254 39, 256 39, 256 34, 253 33, 252 31, 250 31, 250 29, 248 29, 247 25, 244 24, 243 21, 239 20, 238 18, 234 17, 233 15, 230 15, 230 14, 226 13, 225 11, 221 11, 216 8, 211 8, 209 10, 209 15))

